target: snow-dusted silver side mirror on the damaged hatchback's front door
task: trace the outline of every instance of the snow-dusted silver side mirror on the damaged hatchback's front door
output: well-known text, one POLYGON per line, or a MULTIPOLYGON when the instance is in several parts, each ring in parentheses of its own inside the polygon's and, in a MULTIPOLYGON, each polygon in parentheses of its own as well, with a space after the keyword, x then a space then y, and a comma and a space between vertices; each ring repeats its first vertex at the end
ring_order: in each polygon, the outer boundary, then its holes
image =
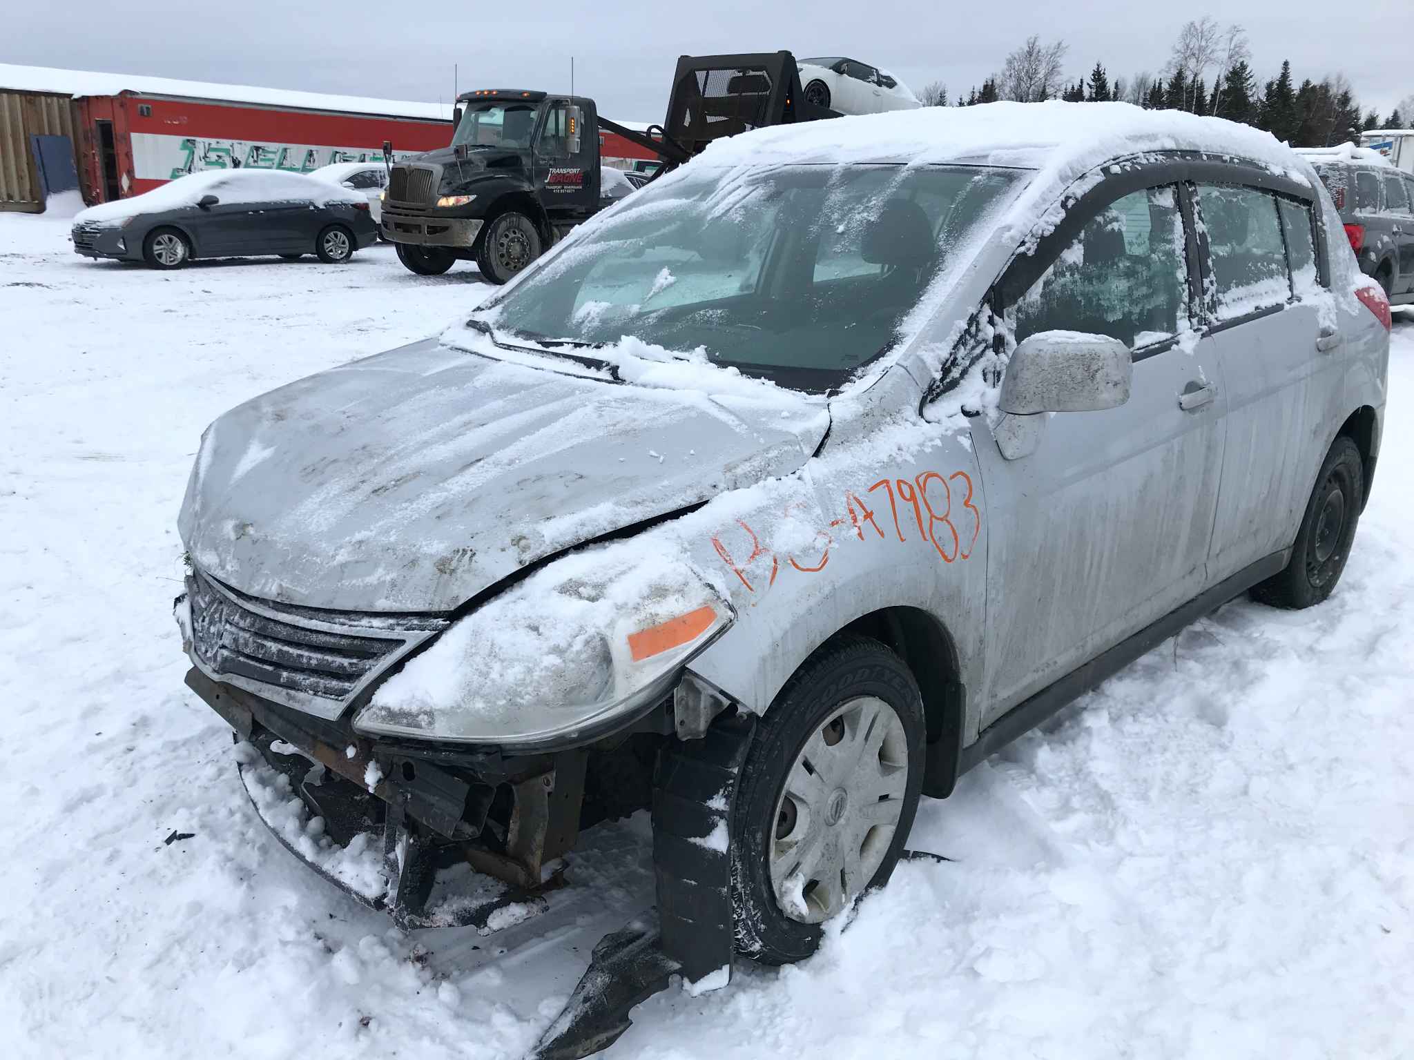
POLYGON ((1130 400, 1130 348, 1107 335, 1042 331, 1007 365, 997 407, 1014 416, 1092 413, 1130 400))

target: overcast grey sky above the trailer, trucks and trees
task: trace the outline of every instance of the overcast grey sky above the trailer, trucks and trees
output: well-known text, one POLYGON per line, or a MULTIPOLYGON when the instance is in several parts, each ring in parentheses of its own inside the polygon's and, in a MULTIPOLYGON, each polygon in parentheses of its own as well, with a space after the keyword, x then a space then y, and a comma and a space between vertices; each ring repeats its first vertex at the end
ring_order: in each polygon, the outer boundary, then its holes
POLYGON ((575 90, 601 113, 660 122, 683 54, 850 55, 915 90, 940 79, 956 98, 1031 33, 1069 44, 1072 81, 1096 59, 1111 79, 1158 71, 1184 20, 1205 13, 1246 27, 1258 81, 1284 58, 1298 82, 1343 71, 1362 107, 1381 116, 1414 93, 1414 0, 1223 0, 1186 10, 1134 0, 20 0, 6 11, 0 62, 437 100, 452 95, 452 64, 462 90, 567 90, 573 55, 575 90))

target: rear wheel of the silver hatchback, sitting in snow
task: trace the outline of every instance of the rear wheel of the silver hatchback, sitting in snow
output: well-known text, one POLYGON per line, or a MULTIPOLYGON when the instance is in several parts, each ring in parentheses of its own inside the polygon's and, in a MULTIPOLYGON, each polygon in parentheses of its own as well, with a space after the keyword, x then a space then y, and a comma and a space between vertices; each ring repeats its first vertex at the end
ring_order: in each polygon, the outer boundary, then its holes
POLYGON ((1365 462, 1353 441, 1340 435, 1326 454, 1311 490, 1291 561, 1254 587, 1251 595, 1274 608, 1309 608, 1340 581, 1365 503, 1365 462))

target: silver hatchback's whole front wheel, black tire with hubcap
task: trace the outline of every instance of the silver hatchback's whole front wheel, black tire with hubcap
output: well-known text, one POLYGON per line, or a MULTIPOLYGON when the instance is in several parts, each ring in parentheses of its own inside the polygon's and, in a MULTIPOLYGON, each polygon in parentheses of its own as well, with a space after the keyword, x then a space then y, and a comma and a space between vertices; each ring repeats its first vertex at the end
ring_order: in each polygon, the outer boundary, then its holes
POLYGON ((756 728, 732 806, 737 950, 765 964, 814 953, 820 924, 882 886, 923 786, 923 700, 877 640, 836 637, 756 728))

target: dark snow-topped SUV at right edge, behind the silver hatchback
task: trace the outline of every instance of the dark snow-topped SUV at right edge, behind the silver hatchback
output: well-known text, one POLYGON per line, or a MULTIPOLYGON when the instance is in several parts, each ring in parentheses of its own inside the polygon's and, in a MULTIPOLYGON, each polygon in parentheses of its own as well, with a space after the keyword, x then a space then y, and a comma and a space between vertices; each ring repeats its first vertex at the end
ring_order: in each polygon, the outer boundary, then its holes
POLYGON ((1391 305, 1414 304, 1414 177, 1367 147, 1311 147, 1309 161, 1335 199, 1360 271, 1391 305))

